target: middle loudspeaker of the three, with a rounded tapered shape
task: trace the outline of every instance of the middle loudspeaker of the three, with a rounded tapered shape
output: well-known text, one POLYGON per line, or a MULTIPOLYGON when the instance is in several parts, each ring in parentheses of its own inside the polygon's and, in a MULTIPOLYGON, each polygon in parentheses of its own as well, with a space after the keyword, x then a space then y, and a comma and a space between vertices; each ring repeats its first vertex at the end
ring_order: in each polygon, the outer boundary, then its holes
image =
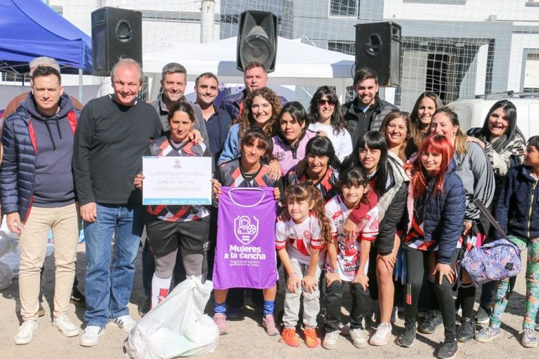
POLYGON ((264 64, 267 72, 273 72, 277 57, 277 17, 266 11, 242 12, 236 54, 240 71, 256 61, 264 64))

